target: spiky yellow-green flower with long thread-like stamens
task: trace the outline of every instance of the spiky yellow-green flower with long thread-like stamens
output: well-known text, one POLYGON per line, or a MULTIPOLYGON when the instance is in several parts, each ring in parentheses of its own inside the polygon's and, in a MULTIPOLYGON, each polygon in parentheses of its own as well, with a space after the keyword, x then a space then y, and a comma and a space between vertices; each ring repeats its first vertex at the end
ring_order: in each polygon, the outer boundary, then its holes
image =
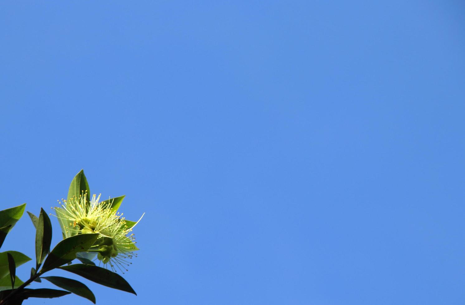
POLYGON ((69 226, 64 226, 67 233, 87 234, 99 233, 99 239, 90 247, 87 252, 96 252, 97 259, 103 263, 105 267, 110 265, 112 271, 116 271, 115 266, 124 273, 126 266, 132 264, 127 259, 132 259, 133 251, 139 250, 135 245, 134 234, 131 233, 135 225, 137 225, 144 216, 131 227, 126 224, 126 219, 121 213, 117 213, 112 208, 113 202, 99 202, 100 195, 92 196, 90 202, 86 200, 86 193, 82 193, 78 198, 73 197, 60 205, 57 209, 57 217, 69 226))

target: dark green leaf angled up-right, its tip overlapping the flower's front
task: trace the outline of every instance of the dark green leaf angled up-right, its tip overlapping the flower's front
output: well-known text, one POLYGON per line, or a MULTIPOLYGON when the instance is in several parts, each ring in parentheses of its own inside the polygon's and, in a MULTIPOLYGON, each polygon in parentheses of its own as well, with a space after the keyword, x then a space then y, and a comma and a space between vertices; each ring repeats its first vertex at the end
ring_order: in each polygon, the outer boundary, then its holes
POLYGON ((79 234, 63 239, 53 248, 52 252, 48 254, 41 272, 52 270, 67 262, 71 262, 76 258, 76 253, 89 249, 98 237, 99 234, 95 233, 79 234))

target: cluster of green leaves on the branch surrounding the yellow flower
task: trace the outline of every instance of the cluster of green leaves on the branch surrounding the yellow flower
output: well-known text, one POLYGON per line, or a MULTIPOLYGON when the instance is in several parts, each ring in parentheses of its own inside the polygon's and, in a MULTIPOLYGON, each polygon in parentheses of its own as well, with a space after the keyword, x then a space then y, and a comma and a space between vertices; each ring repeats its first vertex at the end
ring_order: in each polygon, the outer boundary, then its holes
MULTIPOLYGON (((81 170, 71 182, 68 191, 68 199, 80 194, 90 196, 89 185, 81 170)), ((87 198, 88 200, 89 198, 87 198)), ((121 205, 124 196, 109 199, 103 204, 112 205, 112 209, 116 211, 121 205)), ((22 217, 26 208, 26 204, 15 206, 6 210, 0 211, 0 248, 3 241, 10 233, 13 226, 22 217)), ((57 215, 60 214, 57 209, 57 215)), ((95 304, 95 296, 93 292, 83 283, 78 280, 65 278, 60 276, 43 276, 44 273, 54 269, 63 270, 77 274, 90 281, 105 285, 110 288, 119 289, 125 292, 136 294, 133 288, 119 274, 96 266, 88 256, 86 251, 94 245, 99 238, 98 233, 75 234, 69 233, 66 228, 69 223, 58 218, 62 229, 63 240, 50 250, 52 242, 52 224, 47 213, 41 208, 39 217, 31 212, 27 212, 32 220, 36 230, 35 235, 35 267, 31 268, 30 278, 23 282, 16 275, 16 268, 31 259, 17 251, 0 252, 0 305, 16 305, 22 304, 27 298, 58 298, 64 295, 74 293, 83 298, 87 298, 95 304), (74 259, 79 259, 81 264, 72 264, 74 259), (60 289, 26 288, 33 282, 41 282, 41 279, 58 286, 60 289)), ((133 225, 135 222, 128 221, 128 225, 133 225)), ((71 224, 72 225, 72 224, 71 224)))

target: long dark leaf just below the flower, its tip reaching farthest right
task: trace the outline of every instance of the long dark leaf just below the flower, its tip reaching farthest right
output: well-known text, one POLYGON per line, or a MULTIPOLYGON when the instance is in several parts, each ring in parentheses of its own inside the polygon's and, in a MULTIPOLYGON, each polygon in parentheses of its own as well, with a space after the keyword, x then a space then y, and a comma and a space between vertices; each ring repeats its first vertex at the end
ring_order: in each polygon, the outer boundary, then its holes
POLYGON ((84 264, 73 264, 59 268, 73 272, 100 285, 136 294, 131 285, 129 285, 129 283, 126 282, 124 278, 122 278, 119 274, 111 272, 105 268, 84 264))

